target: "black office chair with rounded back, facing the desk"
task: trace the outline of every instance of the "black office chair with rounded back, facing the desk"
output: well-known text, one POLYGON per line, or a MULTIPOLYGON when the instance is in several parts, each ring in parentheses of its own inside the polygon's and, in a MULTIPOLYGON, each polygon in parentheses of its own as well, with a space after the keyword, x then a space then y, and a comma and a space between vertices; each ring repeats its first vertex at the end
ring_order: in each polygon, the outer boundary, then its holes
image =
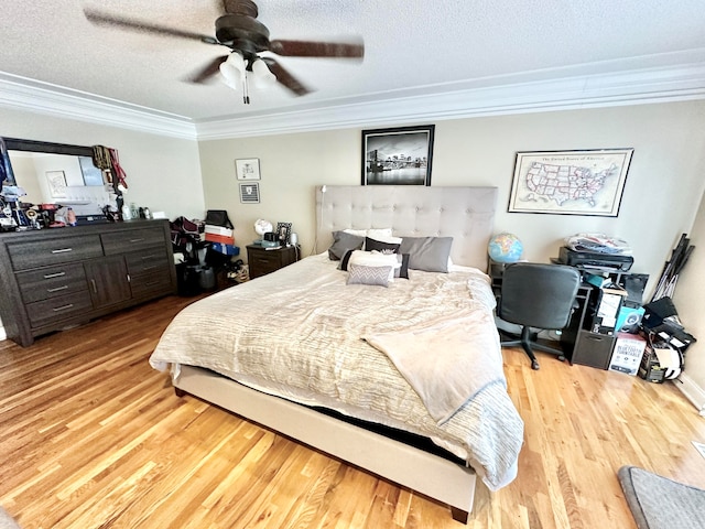
POLYGON ((500 330, 512 339, 502 341, 502 347, 521 345, 531 358, 531 368, 539 369, 532 349, 558 355, 558 348, 536 343, 539 330, 560 330, 567 326, 575 306, 575 294, 581 284, 581 273, 573 267, 517 262, 507 266, 502 274, 501 295, 497 315, 509 323, 521 325, 521 335, 500 330))

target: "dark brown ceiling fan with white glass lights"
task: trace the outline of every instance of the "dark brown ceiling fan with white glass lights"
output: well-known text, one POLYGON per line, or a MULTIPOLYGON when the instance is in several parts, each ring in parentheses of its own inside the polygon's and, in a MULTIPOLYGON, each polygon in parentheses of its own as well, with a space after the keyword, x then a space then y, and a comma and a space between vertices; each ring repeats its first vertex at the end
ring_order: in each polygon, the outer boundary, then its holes
POLYGON ((188 80, 205 83, 218 72, 231 88, 242 86, 242 98, 249 104, 248 73, 256 82, 263 84, 279 82, 297 96, 311 91, 296 77, 289 73, 275 58, 261 53, 280 55, 283 57, 332 57, 332 58, 362 58, 365 45, 361 39, 351 42, 315 42, 270 40, 269 30, 257 20, 259 10, 251 0, 224 0, 225 14, 216 19, 215 36, 195 32, 167 28, 151 22, 116 17, 109 13, 86 8, 86 19, 94 24, 111 28, 134 30, 158 35, 182 39, 195 39, 206 44, 228 47, 227 55, 216 57, 194 73, 188 80))

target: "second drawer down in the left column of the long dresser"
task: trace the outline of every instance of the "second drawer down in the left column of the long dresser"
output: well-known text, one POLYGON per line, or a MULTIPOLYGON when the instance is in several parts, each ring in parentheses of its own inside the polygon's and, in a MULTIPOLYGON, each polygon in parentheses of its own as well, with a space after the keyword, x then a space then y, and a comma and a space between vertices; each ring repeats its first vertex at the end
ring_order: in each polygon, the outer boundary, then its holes
POLYGON ((73 294, 88 288, 80 262, 19 272, 15 278, 25 303, 73 294))

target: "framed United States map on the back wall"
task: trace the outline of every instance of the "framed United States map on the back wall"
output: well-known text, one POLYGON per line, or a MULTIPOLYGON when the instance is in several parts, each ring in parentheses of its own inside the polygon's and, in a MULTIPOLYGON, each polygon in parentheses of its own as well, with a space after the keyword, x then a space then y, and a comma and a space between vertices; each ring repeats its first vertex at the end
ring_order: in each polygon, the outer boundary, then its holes
POLYGON ((518 152, 509 213, 619 215, 633 149, 518 152))

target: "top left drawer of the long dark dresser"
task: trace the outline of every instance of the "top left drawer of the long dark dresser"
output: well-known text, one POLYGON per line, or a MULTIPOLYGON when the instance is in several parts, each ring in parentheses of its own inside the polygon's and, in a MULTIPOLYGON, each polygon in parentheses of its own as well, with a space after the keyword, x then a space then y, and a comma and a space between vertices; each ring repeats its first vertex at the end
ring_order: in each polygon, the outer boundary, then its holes
POLYGON ((8 253, 14 270, 29 270, 101 257, 102 246, 98 235, 52 237, 47 240, 9 242, 8 253))

